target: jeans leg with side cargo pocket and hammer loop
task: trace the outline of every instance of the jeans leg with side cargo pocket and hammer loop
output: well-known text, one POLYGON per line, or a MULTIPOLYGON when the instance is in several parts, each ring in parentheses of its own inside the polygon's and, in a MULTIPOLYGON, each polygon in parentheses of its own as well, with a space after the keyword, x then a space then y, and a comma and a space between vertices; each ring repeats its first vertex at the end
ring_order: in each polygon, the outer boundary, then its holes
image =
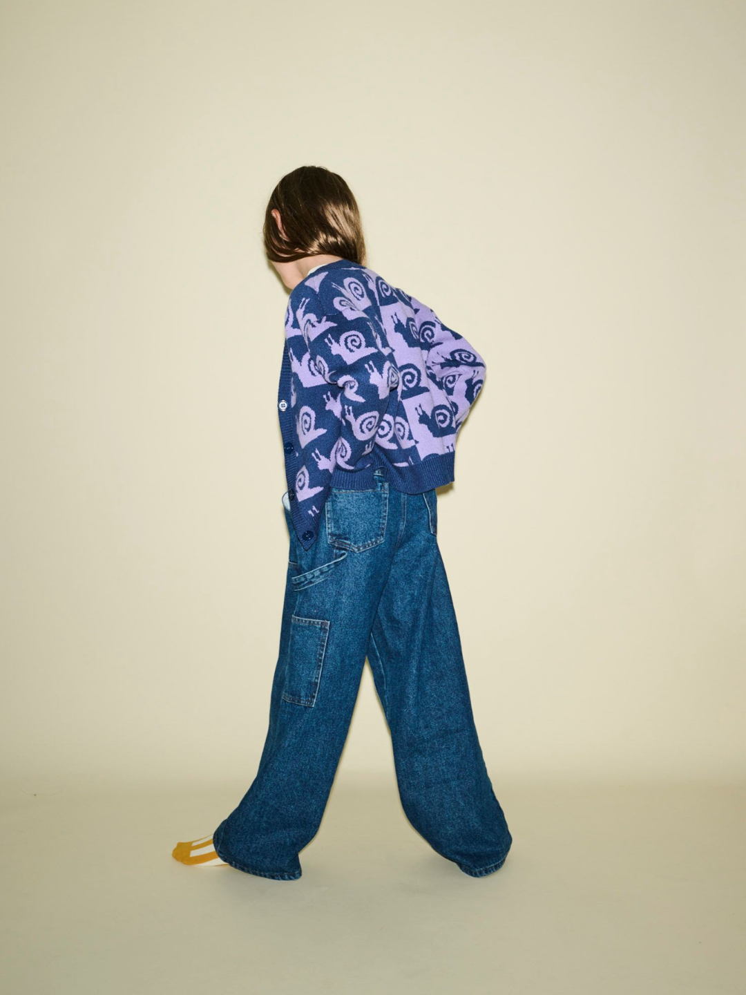
POLYGON ((259 769, 239 805, 213 833, 216 852, 226 863, 278 880, 300 877, 298 854, 320 825, 399 534, 400 505, 396 499, 389 504, 386 484, 330 501, 340 534, 351 527, 364 548, 347 549, 344 538, 334 535, 330 540, 325 517, 307 553, 291 544, 294 560, 287 569, 280 653, 259 769), (368 537, 374 545, 367 545, 368 537))

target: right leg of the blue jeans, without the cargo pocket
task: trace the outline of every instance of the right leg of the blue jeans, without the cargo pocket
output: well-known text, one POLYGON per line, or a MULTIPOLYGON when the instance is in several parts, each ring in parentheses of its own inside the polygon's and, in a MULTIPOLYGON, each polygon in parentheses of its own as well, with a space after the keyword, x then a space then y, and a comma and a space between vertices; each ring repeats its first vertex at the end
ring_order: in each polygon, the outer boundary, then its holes
POLYGON ((434 531, 436 492, 402 495, 400 541, 368 646, 414 828, 462 871, 496 871, 512 843, 474 725, 461 636, 434 531))

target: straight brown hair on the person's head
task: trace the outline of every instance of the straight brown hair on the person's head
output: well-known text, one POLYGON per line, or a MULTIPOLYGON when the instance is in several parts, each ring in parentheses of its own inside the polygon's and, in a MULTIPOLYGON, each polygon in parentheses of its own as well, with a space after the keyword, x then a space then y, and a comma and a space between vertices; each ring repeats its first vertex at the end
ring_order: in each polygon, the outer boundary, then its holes
POLYGON ((342 177, 323 166, 285 173, 267 205, 263 235, 267 258, 274 263, 328 254, 365 265, 357 201, 342 177), (274 209, 280 211, 284 238, 274 209))

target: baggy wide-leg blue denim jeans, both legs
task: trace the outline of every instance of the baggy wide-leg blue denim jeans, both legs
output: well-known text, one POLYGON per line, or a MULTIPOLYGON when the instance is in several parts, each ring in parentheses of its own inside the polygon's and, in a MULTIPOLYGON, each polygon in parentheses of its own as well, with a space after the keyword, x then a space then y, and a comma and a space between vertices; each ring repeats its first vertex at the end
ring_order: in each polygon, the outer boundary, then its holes
POLYGON ((320 825, 366 657, 412 826, 475 878, 497 871, 512 843, 474 727, 436 491, 405 495, 379 472, 374 480, 365 491, 332 489, 307 550, 285 506, 267 739, 251 787, 213 833, 218 856, 248 874, 300 877, 298 853, 320 825))

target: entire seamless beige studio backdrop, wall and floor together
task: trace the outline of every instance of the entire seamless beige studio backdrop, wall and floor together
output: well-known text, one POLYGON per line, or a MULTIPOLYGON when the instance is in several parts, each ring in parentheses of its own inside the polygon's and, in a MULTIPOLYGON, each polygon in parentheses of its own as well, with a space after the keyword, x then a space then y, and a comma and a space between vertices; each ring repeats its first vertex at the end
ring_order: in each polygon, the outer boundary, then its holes
POLYGON ((0 18, 3 991, 741 995, 743 4, 0 18), (267 731, 303 163, 487 363, 439 492, 485 879, 406 823, 367 668, 298 882, 170 857, 267 731))

